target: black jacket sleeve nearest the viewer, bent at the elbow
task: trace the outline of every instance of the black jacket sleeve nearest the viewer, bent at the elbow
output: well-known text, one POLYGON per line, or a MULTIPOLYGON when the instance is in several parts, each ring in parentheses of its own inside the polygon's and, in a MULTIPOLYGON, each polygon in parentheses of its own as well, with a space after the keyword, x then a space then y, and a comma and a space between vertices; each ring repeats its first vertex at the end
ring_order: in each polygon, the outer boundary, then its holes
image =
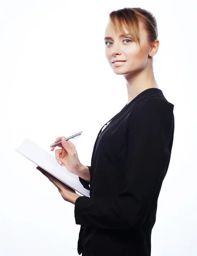
POLYGON ((143 224, 170 159, 173 109, 173 104, 157 97, 136 105, 129 116, 125 188, 114 200, 77 198, 76 224, 105 229, 137 229, 143 224))

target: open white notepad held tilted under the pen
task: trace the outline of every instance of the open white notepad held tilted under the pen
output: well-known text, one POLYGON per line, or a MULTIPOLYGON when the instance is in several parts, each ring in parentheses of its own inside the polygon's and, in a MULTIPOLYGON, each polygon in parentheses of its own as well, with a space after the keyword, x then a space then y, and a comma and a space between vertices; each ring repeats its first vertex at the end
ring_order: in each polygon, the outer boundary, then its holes
MULTIPOLYGON (((57 160, 49 152, 41 148, 30 139, 25 139, 23 143, 15 148, 20 154, 29 159, 31 162, 40 166, 46 172, 56 177, 58 180, 71 187, 80 194, 89 197, 89 189, 85 189, 80 183, 79 176, 71 173, 66 166, 60 166, 57 160)), ((35 168, 35 171, 38 171, 35 168)))

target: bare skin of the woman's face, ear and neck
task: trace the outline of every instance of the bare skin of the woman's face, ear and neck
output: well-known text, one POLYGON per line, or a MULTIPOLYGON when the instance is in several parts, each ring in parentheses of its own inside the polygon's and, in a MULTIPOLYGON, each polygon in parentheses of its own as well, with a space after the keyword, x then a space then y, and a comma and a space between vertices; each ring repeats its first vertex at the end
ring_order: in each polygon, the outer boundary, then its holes
MULTIPOLYGON (((128 31, 124 29, 126 33, 128 31)), ((158 88, 152 68, 152 57, 157 53, 159 41, 155 40, 148 44, 147 32, 140 22, 140 46, 137 42, 129 41, 131 37, 119 38, 121 32, 114 32, 109 21, 106 26, 105 36, 112 39, 105 39, 108 42, 105 49, 106 58, 117 75, 123 75, 126 79, 128 102, 134 99, 139 93, 148 88, 158 88), (128 39, 128 40, 127 40, 128 39), (121 66, 114 67, 111 61, 126 60, 121 66)))

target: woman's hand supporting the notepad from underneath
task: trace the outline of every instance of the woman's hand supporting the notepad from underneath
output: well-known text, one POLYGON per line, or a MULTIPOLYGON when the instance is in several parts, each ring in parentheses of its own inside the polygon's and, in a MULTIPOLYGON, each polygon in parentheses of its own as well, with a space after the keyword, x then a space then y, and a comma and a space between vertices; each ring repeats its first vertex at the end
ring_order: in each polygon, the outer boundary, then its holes
POLYGON ((60 180, 51 175, 49 172, 46 172, 40 166, 37 166, 36 169, 42 172, 42 174, 45 175, 57 187, 65 201, 75 204, 76 199, 80 197, 80 195, 77 195, 74 189, 71 189, 69 186, 62 183, 60 180))

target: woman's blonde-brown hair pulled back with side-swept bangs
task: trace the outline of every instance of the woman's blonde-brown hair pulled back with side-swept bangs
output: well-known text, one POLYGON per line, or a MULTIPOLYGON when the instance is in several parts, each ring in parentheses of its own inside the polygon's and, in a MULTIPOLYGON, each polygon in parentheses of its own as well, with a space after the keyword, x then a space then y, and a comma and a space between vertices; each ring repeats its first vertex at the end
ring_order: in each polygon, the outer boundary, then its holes
POLYGON ((115 32, 119 29, 119 31, 124 34, 125 27, 129 34, 131 34, 131 39, 139 45, 139 21, 141 21, 143 29, 145 29, 148 34, 148 44, 153 43, 158 37, 157 20, 151 12, 145 9, 129 7, 118 9, 109 14, 109 20, 114 26, 115 32))

